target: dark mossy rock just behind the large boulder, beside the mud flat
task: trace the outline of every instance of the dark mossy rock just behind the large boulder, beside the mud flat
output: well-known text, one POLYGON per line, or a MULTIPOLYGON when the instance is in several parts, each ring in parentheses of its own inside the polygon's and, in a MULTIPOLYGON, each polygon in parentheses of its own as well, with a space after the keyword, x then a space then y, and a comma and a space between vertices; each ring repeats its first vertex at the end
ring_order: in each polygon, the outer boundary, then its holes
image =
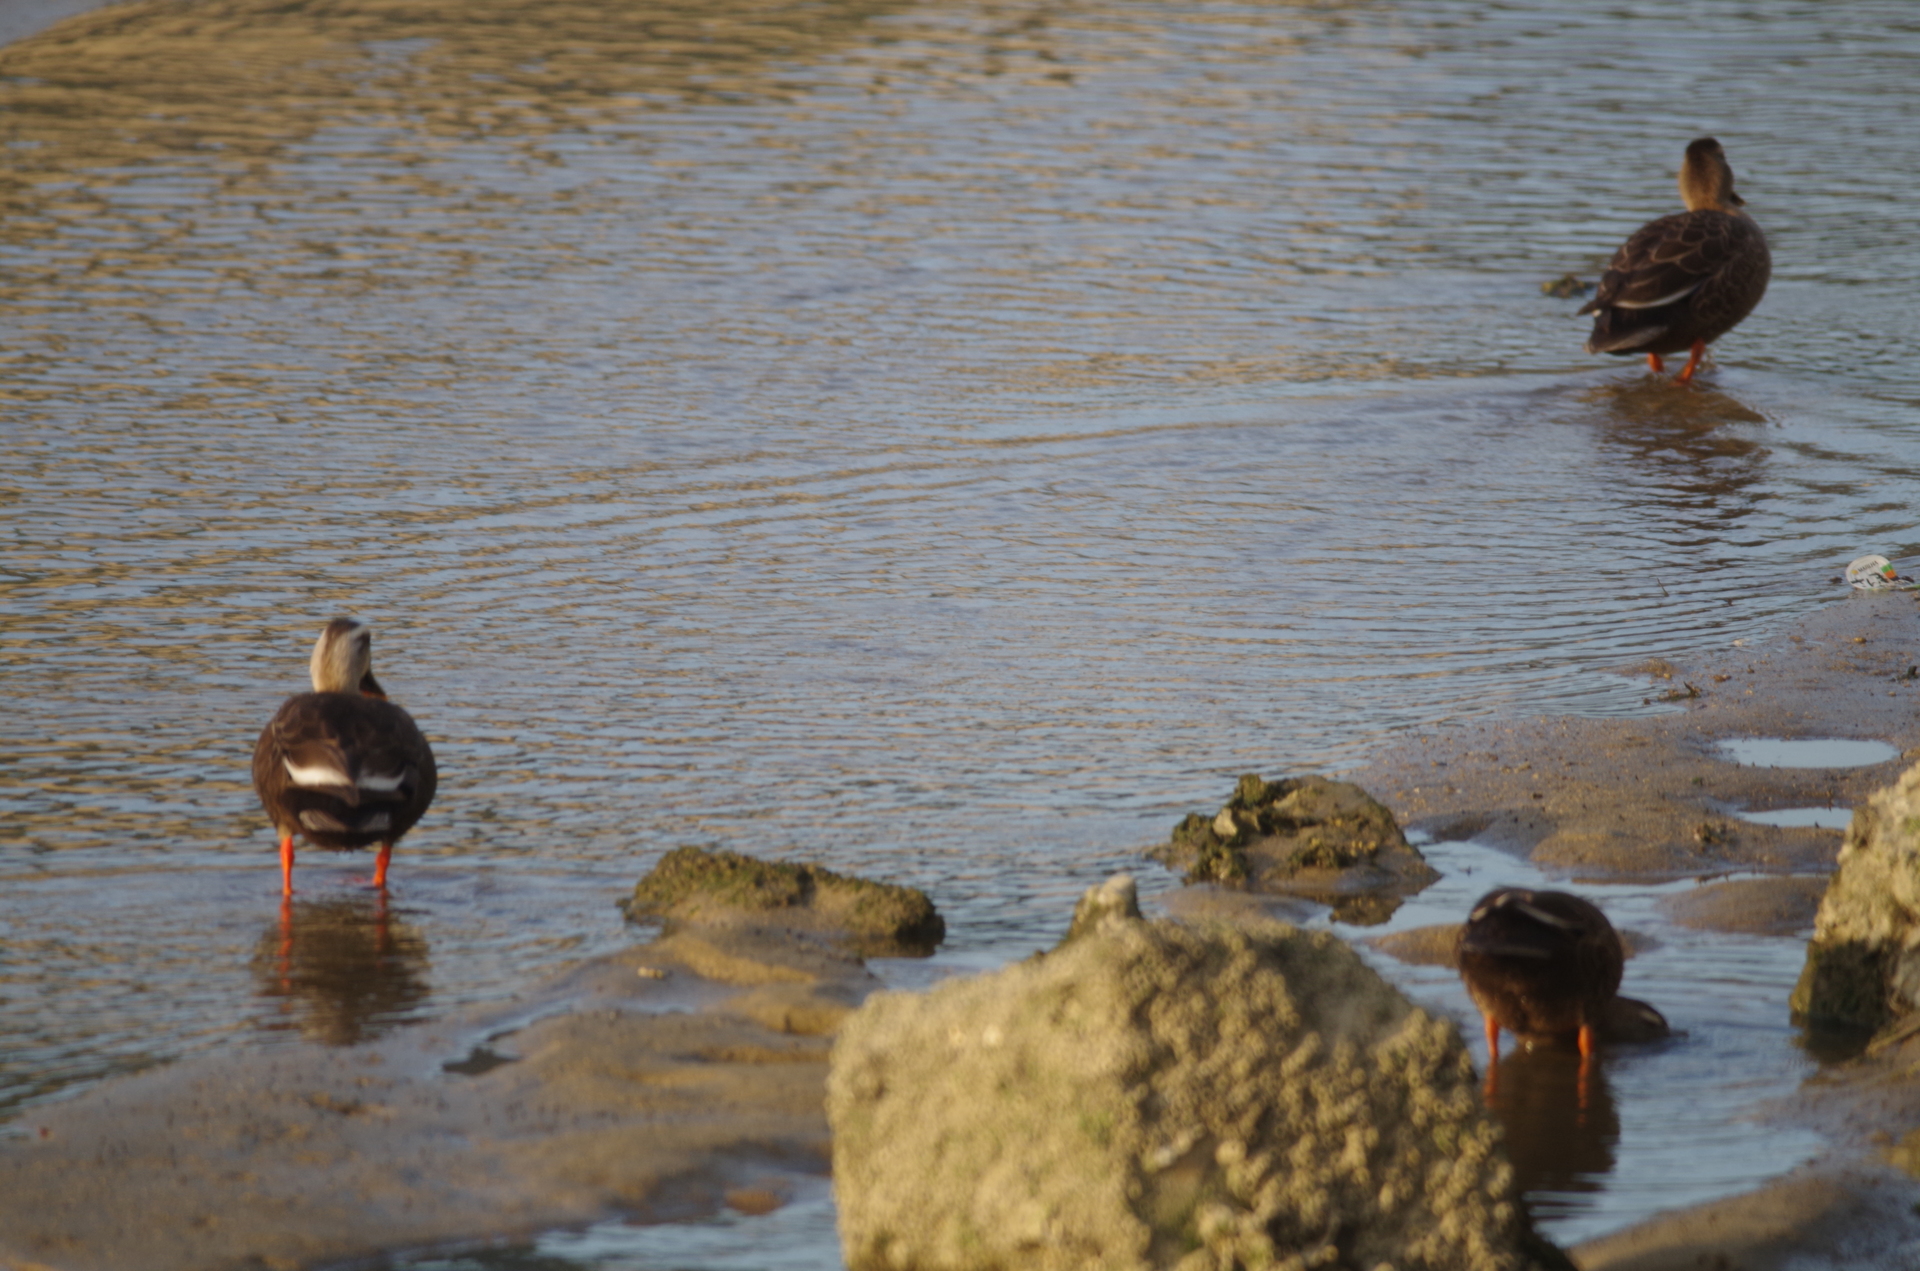
POLYGON ((1394 814, 1352 781, 1246 774, 1213 816, 1188 814, 1154 856, 1188 883, 1332 904, 1352 923, 1384 922, 1400 897, 1436 877, 1394 814))

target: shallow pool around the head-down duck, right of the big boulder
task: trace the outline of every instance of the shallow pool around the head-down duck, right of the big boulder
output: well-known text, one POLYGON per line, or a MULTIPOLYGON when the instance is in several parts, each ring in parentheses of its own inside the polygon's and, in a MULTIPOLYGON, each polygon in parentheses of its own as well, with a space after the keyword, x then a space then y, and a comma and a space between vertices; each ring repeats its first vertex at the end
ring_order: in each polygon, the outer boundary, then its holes
MULTIPOLYGON (((1672 923, 1661 900, 1697 887, 1692 879, 1571 885, 1490 847, 1419 847, 1442 879, 1392 922, 1363 931, 1327 920, 1319 925, 1365 939, 1461 922, 1484 893, 1519 885, 1574 891, 1617 927, 1655 941, 1628 960, 1620 991, 1653 1002, 1676 1037, 1605 1050, 1586 1114, 1571 1096, 1578 1056, 1517 1046, 1501 1056, 1494 1112, 1548 1238, 1576 1244, 1663 1210, 1732 1196, 1820 1150, 1822 1139, 1811 1131, 1751 1119, 1755 1106, 1789 1094, 1816 1067, 1788 1014, 1805 950, 1799 939, 1672 923)), ((1367 947, 1361 952, 1407 996, 1457 1019, 1486 1071, 1480 1018, 1453 968, 1405 966, 1367 947)))

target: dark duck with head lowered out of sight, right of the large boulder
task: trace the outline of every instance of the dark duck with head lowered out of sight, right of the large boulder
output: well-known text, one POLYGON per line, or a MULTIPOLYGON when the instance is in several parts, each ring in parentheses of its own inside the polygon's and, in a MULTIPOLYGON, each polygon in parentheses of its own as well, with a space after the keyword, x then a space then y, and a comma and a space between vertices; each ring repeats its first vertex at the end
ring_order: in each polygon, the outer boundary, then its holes
POLYGON ((1455 962, 1486 1019, 1488 1094, 1500 1073, 1500 1029, 1528 1044, 1572 1039, 1582 1091, 1597 1043, 1667 1035, 1657 1010, 1617 996, 1626 952, 1613 923, 1565 891, 1486 893, 1459 931, 1455 962))

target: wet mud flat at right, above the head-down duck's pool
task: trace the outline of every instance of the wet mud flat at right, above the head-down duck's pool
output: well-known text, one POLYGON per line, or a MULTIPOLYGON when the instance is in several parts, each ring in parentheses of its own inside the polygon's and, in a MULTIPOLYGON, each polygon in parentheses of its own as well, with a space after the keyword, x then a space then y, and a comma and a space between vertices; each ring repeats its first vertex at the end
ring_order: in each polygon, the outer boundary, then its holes
POLYGON ((1740 812, 1853 806, 1920 749, 1920 605, 1855 595, 1764 647, 1622 668, 1651 718, 1488 722, 1409 741, 1357 772, 1409 831, 1478 839, 1572 879, 1828 870, 1837 829, 1740 812), (1908 758, 1862 768, 1751 768, 1734 737, 1859 737, 1908 758))

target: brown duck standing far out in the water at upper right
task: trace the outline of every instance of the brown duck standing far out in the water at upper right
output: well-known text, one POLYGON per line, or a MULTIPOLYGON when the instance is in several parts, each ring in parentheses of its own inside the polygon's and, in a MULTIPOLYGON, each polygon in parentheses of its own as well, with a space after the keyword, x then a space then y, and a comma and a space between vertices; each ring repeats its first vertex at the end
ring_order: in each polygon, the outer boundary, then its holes
POLYGON ((1647 355, 1688 349, 1686 384, 1707 346, 1734 330, 1766 294, 1772 257, 1766 236, 1734 194, 1734 169, 1720 142, 1703 136, 1686 148, 1680 198, 1688 209, 1634 230, 1580 313, 1594 315, 1588 353, 1647 355))

